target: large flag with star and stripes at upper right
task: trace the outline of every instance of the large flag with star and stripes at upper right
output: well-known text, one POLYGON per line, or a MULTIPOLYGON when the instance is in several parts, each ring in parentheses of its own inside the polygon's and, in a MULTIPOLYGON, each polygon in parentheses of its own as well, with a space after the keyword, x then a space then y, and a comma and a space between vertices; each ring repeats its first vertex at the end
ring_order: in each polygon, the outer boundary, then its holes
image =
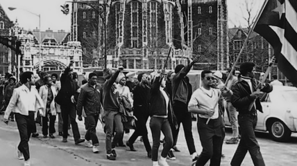
POLYGON ((255 32, 273 47, 280 71, 297 84, 297 1, 268 0, 255 32))

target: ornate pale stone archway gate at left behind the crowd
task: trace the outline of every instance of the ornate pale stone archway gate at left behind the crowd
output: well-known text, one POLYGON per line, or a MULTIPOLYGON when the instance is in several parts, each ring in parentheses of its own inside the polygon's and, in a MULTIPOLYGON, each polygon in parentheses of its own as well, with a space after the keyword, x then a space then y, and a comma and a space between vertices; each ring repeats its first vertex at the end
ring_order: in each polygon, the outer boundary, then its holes
POLYGON ((74 71, 83 71, 82 50, 80 42, 69 42, 70 33, 64 30, 39 32, 23 30, 17 35, 20 43, 19 68, 20 72, 59 71, 64 70, 70 61, 74 61, 74 71), (41 39, 39 39, 41 37, 41 39), (39 44, 41 41, 41 46, 39 44))

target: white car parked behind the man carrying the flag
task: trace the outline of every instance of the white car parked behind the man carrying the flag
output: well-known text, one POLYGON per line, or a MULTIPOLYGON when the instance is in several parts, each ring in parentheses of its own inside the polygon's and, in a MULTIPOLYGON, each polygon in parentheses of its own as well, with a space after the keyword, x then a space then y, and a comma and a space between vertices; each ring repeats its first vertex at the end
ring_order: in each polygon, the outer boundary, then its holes
MULTIPOLYGON (((297 88, 293 86, 273 86, 273 91, 261 102, 263 113, 257 112, 258 131, 269 131, 271 138, 286 142, 291 132, 297 132, 297 88)), ((224 120, 231 126, 227 112, 224 120)))

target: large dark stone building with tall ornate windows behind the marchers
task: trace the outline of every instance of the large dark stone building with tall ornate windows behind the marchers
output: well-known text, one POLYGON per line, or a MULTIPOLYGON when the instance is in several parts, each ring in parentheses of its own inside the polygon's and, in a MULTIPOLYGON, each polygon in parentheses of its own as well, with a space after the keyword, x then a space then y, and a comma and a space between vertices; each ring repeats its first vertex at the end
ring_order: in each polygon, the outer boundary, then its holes
POLYGON ((203 55, 203 61, 214 64, 215 69, 226 66, 228 51, 223 47, 227 48, 228 42, 223 37, 228 27, 226 17, 221 16, 222 11, 226 13, 226 1, 74 1, 78 3, 71 12, 71 40, 81 42, 84 62, 99 59, 100 65, 106 48, 108 66, 113 67, 123 64, 125 68, 148 69, 166 65, 170 69, 186 64, 192 55, 203 55), (96 2, 107 4, 106 12, 96 2), (83 3, 93 3, 95 8, 83 3), (210 39, 212 43, 206 42, 210 39), (208 60, 210 54, 203 53, 210 47, 215 50, 209 51, 215 54, 212 61, 208 60))

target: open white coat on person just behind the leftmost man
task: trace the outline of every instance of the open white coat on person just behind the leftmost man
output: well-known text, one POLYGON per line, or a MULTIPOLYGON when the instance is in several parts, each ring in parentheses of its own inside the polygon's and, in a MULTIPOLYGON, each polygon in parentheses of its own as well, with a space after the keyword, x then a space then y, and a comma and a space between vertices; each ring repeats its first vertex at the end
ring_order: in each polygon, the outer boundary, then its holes
MULTIPOLYGON (((55 86, 51 86, 51 92, 53 93, 53 101, 51 101, 51 115, 56 116, 57 111, 56 111, 55 98, 57 95, 57 91, 56 91, 55 86)), ((43 104, 44 104, 44 109, 42 109, 43 117, 46 116, 46 102, 47 102, 48 93, 49 93, 49 88, 46 85, 43 85, 40 87, 39 95, 42 98, 43 104)))

